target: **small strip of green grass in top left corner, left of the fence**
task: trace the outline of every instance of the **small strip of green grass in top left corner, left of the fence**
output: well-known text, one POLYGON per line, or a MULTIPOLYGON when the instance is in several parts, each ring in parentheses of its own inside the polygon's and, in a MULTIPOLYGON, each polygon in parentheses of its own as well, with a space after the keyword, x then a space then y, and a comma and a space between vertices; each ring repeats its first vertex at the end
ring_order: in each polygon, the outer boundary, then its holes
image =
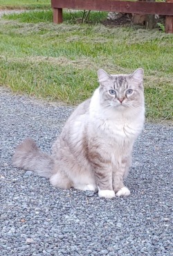
POLYGON ((50 8, 51 0, 0 0, 0 9, 50 8))

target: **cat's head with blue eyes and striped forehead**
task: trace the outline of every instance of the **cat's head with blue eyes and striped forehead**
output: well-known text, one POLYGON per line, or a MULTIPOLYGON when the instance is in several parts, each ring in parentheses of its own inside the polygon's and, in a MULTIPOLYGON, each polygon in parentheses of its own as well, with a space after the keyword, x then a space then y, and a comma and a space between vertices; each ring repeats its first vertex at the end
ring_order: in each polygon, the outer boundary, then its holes
POLYGON ((140 108, 144 105, 143 69, 129 75, 109 75, 98 70, 100 103, 111 108, 140 108))

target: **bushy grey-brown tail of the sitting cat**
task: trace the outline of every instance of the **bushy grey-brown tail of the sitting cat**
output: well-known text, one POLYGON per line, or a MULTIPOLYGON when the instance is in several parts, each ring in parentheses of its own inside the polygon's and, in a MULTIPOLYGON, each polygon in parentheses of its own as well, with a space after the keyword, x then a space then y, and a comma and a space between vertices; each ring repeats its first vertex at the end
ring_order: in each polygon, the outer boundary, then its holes
POLYGON ((15 149, 12 157, 14 167, 36 171, 39 176, 51 178, 54 160, 51 155, 42 153, 33 139, 25 139, 15 149))

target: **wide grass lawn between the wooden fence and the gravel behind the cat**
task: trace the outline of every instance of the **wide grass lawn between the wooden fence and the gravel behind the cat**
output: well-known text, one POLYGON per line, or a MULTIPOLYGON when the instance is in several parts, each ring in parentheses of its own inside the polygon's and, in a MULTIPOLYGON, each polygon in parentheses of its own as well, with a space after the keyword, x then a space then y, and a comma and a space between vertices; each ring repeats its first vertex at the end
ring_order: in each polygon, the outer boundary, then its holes
POLYGON ((51 10, 8 15, 0 20, 0 83, 13 92, 78 104, 98 86, 97 70, 128 74, 145 69, 149 121, 171 121, 173 36, 143 28, 108 28, 106 12, 81 12, 52 23, 51 10))

